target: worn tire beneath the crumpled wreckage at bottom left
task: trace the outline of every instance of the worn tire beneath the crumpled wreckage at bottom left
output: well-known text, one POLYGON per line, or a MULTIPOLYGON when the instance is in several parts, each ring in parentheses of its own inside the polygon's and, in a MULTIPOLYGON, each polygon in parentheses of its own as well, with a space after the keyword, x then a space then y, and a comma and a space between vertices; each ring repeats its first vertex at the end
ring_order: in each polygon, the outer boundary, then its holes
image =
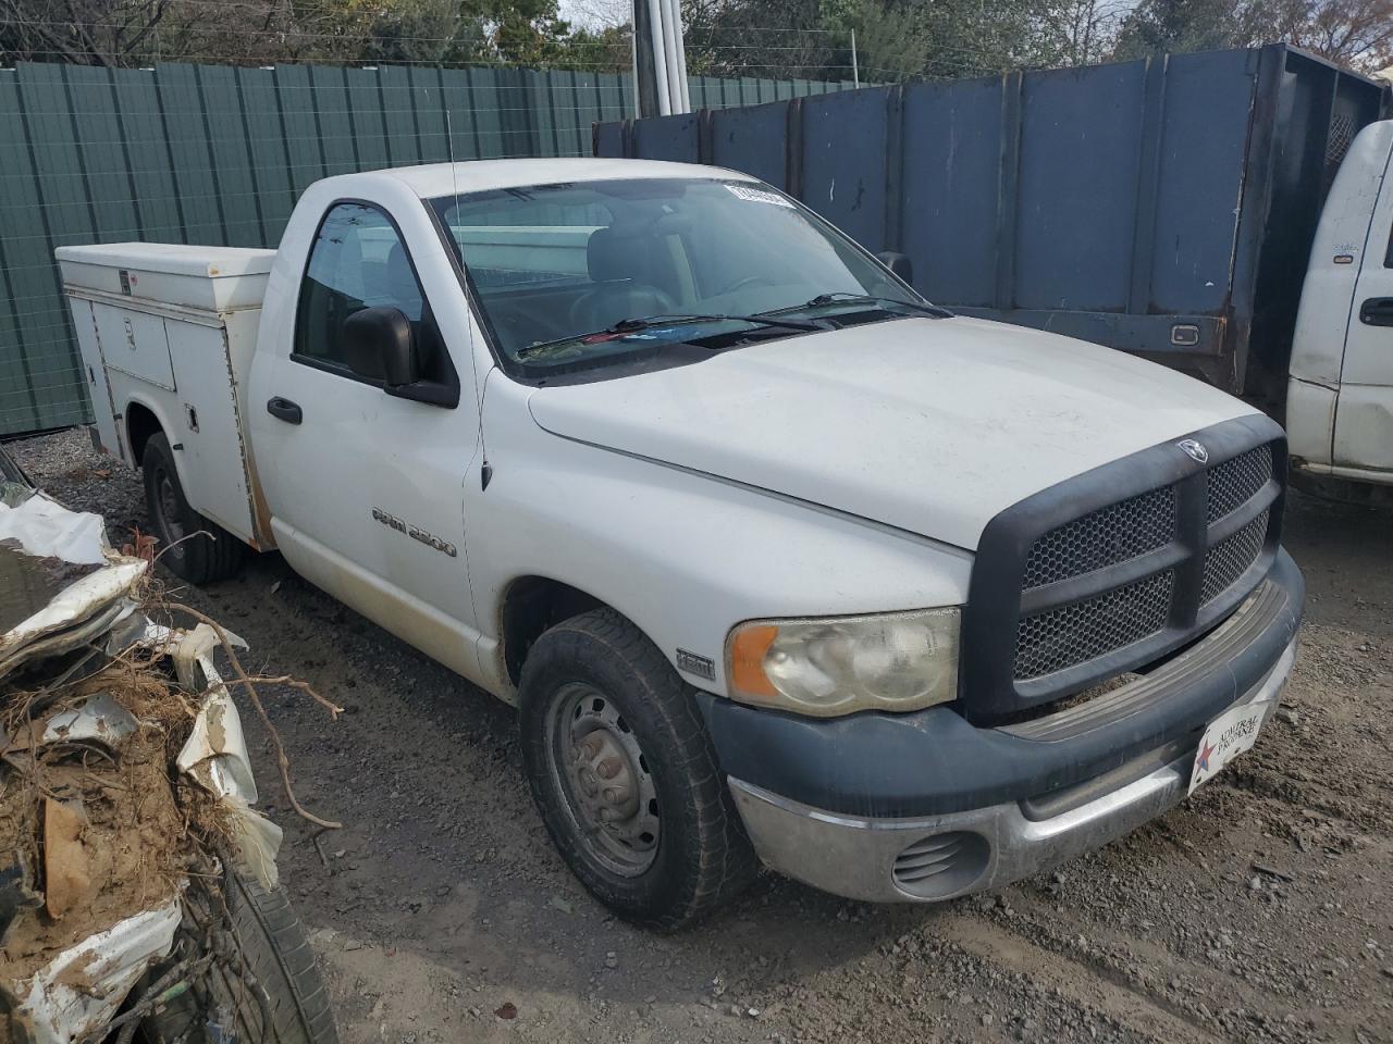
POLYGON ((283 889, 231 874, 231 942, 241 967, 219 962, 201 984, 141 1026, 153 1044, 338 1044, 329 991, 283 889), (258 1004, 247 972, 262 991, 258 1004), (270 1015, 265 1025, 263 1011, 270 1015))

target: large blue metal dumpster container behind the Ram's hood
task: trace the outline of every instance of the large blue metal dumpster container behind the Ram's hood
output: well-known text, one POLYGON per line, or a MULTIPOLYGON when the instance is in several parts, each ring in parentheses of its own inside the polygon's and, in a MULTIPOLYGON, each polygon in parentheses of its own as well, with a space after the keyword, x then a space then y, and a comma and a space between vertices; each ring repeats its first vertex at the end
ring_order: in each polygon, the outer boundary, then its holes
POLYGON ((1386 85, 1273 45, 596 124, 593 150, 755 174, 908 255, 937 303, 1279 412, 1321 205, 1387 110, 1386 85))

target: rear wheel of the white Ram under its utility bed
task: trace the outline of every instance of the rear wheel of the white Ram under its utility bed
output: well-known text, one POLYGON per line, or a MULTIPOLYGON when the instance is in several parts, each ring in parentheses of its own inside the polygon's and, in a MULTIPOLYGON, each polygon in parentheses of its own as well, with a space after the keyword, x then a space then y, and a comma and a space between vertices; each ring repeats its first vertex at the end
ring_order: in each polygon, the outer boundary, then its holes
POLYGON ((155 548, 160 561, 189 583, 235 576, 247 544, 189 507, 178 483, 174 451, 163 433, 150 436, 145 444, 141 468, 145 472, 145 507, 160 541, 155 548))

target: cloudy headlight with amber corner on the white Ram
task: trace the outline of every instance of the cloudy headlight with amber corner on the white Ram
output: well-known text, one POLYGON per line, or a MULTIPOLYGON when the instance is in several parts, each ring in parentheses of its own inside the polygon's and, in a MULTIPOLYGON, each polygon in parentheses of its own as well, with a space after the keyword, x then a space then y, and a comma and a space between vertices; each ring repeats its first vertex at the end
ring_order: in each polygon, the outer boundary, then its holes
POLYGON ((957 696, 958 611, 754 619, 726 640, 731 697, 832 717, 957 696))

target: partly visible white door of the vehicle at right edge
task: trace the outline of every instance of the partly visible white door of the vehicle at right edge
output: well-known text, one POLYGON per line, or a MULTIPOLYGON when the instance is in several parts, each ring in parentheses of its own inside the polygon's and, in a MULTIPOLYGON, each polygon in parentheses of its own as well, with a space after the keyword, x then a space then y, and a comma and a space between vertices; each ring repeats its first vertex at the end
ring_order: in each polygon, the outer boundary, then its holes
MULTIPOLYGON (((1340 369, 1336 468, 1393 472, 1393 182, 1385 167, 1340 369)), ((1372 477, 1372 476, 1371 476, 1372 477)))

